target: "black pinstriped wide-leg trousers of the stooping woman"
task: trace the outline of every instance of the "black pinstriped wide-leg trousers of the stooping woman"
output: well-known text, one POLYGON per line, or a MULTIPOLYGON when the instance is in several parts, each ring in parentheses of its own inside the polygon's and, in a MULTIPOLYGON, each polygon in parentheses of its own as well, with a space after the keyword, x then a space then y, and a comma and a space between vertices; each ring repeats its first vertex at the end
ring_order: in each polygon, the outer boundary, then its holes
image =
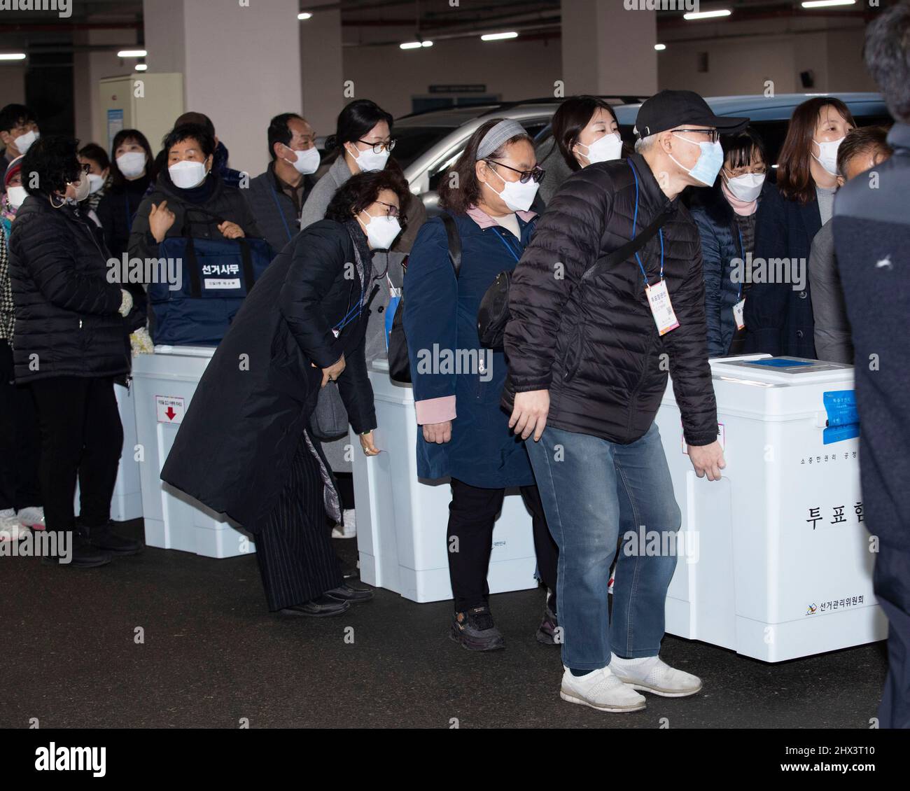
POLYGON ((319 461, 301 433, 288 482, 258 525, 256 557, 268 609, 308 602, 344 582, 322 499, 319 461))

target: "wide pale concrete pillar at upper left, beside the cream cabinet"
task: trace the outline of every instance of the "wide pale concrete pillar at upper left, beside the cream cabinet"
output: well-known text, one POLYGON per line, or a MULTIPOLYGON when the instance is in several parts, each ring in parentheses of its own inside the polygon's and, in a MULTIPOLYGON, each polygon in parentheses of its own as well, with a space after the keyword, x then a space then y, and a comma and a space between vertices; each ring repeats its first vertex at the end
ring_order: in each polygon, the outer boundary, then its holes
POLYGON ((298 0, 143 0, 149 72, 182 72, 187 110, 205 113, 230 166, 268 165, 271 117, 298 112, 298 0))

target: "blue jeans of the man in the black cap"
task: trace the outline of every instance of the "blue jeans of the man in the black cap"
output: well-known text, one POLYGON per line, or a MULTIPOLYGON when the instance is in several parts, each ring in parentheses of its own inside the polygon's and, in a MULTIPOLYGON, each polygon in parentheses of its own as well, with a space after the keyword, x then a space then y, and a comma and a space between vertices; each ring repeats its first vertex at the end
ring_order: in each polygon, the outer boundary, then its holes
POLYGON ((656 656, 682 521, 657 424, 628 445, 551 426, 539 442, 525 444, 560 549, 562 664, 606 667, 611 649, 627 659, 656 656), (649 539, 654 532, 663 539, 651 551, 642 545, 642 527, 649 539), (607 583, 621 535, 610 621, 607 583))

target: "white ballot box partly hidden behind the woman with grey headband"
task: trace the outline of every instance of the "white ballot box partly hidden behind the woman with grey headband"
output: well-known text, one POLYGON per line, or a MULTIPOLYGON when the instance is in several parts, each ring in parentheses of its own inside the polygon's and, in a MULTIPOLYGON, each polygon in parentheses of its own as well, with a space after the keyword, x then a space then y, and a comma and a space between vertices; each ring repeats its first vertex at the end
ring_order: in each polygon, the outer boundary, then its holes
MULTIPOLYGON (((351 432, 360 579, 413 602, 452 597, 446 527, 448 481, 417 477, 417 418, 410 385, 389 379, 388 360, 370 365, 376 400, 376 446, 368 458, 351 432)), ((521 495, 507 491, 493 530, 487 583, 490 593, 537 586, 531 514, 521 495)))

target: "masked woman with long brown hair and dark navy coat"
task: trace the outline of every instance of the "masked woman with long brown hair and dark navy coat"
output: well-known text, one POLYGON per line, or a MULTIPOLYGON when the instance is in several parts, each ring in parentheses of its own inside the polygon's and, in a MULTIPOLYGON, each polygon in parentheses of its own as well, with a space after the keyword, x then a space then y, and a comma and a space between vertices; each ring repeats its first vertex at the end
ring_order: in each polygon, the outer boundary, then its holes
POLYGON ((755 222, 755 259, 784 259, 784 282, 754 283, 744 306, 746 352, 815 359, 809 253, 832 214, 837 148, 856 126, 840 99, 816 96, 794 110, 777 163, 777 188, 755 222), (795 286, 795 288, 794 288, 795 286))

